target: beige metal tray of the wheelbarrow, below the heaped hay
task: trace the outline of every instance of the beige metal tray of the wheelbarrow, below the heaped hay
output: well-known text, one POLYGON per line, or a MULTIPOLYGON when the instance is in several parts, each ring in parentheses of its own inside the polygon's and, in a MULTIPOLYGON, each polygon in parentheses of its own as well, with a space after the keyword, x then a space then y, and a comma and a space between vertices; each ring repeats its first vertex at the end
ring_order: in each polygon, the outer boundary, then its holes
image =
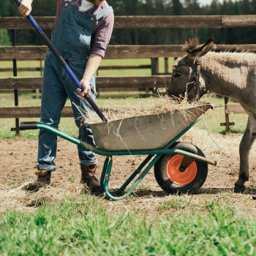
POLYGON ((90 124, 97 147, 104 151, 132 151, 163 148, 211 105, 135 116, 106 123, 90 124))

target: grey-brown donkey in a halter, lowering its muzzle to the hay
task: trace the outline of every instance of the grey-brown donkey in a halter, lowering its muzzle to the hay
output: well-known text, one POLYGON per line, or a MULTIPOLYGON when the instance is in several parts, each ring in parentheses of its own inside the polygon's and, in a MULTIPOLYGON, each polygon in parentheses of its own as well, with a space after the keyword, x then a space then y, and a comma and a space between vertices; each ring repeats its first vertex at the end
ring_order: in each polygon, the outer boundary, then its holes
POLYGON ((167 95, 200 99, 207 91, 238 101, 248 114, 239 146, 240 171, 235 192, 244 192, 249 180, 249 151, 256 138, 256 54, 237 48, 218 47, 214 38, 200 45, 198 39, 185 42, 187 54, 173 64, 167 95))

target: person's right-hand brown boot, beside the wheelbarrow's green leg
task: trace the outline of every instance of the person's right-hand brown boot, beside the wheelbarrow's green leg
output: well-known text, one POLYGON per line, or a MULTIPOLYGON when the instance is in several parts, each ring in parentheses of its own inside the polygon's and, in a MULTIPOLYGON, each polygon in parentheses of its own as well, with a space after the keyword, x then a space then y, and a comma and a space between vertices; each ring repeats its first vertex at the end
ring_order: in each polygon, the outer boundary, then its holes
POLYGON ((80 165, 81 167, 81 181, 80 183, 86 184, 92 192, 102 192, 100 182, 95 177, 97 165, 80 165))

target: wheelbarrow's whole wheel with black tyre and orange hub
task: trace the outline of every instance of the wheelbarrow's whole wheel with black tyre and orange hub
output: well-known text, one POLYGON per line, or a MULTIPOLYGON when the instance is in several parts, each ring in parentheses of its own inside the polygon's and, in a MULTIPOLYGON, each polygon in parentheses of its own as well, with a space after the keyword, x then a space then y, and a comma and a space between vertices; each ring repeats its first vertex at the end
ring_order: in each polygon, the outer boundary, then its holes
MULTIPOLYGON (((172 148, 205 157, 200 148, 192 143, 178 142, 172 148)), ((205 162, 181 154, 162 155, 154 165, 157 183, 169 194, 195 192, 203 186, 207 174, 208 165, 205 162)))

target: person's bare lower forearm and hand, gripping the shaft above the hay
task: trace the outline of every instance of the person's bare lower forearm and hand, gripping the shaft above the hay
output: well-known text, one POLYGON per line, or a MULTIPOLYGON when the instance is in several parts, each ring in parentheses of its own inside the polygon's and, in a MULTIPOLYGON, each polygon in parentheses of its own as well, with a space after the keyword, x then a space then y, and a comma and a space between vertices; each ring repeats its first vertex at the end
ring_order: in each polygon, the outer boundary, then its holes
POLYGON ((91 86, 90 81, 97 69, 99 68, 99 64, 102 61, 102 56, 91 53, 89 56, 88 62, 86 64, 86 71, 83 74, 82 80, 80 80, 81 85, 84 88, 84 91, 81 91, 79 88, 77 89, 78 94, 80 94, 80 97, 84 97, 86 95, 86 92, 90 94, 91 92, 91 86))

